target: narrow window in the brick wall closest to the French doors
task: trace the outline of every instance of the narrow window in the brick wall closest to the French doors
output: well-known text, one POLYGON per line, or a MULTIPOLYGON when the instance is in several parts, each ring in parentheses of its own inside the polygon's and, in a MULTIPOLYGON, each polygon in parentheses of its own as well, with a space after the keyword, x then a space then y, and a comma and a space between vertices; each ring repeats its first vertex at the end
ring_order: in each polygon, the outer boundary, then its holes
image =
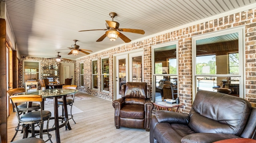
POLYGON ((102 90, 109 91, 109 59, 102 59, 102 90))

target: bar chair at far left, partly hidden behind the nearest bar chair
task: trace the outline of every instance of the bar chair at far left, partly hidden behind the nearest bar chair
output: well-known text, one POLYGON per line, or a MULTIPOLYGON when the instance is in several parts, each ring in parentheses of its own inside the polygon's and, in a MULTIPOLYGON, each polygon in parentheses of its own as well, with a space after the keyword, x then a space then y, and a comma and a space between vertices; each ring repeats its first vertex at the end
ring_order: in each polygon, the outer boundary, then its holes
MULTIPOLYGON (((25 89, 24 89, 24 88, 13 88, 13 89, 8 90, 7 93, 9 94, 9 97, 11 97, 11 96, 15 96, 15 95, 18 95, 18 94, 24 94, 24 93, 25 93, 25 89)), ((26 108, 27 105, 28 105, 28 103, 23 103, 23 104, 19 104, 19 105, 16 104, 16 106, 17 106, 18 108, 23 108, 23 109, 26 108)), ((40 109, 40 104, 38 104, 38 103, 32 103, 31 106, 32 106, 35 110, 40 109)), ((16 110, 16 108, 15 108, 13 102, 12 102, 12 110, 13 110, 13 112, 15 112, 15 110, 16 110)), ((22 113, 25 113, 25 112, 26 112, 26 110, 20 111, 20 112, 18 112, 18 113, 21 115, 22 113)), ((12 137, 11 142, 12 142, 12 141, 14 140, 14 138, 16 137, 18 131, 23 131, 23 129, 20 129, 20 124, 19 124, 19 123, 18 123, 17 127, 15 127, 15 130, 16 130, 16 133, 15 133, 14 136, 12 137)))

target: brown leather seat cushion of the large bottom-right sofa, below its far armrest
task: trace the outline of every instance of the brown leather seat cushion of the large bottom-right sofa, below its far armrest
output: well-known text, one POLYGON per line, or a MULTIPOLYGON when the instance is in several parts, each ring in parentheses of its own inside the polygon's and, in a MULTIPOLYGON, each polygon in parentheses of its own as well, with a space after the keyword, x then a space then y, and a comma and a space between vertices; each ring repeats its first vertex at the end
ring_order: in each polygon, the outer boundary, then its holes
POLYGON ((195 133, 188 125, 167 123, 158 123, 154 129, 154 138, 159 143, 180 143, 186 135, 195 133))

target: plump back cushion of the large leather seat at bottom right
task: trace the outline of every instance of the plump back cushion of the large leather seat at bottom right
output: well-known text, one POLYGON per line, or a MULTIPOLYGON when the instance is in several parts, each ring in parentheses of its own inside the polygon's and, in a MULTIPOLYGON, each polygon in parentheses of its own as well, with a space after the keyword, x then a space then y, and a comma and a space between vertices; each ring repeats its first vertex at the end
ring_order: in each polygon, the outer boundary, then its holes
POLYGON ((189 126, 196 133, 240 135, 250 115, 247 100, 218 92, 200 90, 190 110, 189 126))

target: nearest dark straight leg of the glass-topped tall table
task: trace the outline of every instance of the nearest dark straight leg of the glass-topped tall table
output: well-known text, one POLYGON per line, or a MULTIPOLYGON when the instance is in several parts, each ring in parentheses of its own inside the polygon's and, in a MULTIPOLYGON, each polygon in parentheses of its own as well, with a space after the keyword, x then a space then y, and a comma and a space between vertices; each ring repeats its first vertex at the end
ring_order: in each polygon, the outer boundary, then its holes
POLYGON ((54 122, 55 122, 55 135, 57 143, 60 143, 60 128, 59 128, 59 114, 58 114, 58 97, 54 97, 54 122))

